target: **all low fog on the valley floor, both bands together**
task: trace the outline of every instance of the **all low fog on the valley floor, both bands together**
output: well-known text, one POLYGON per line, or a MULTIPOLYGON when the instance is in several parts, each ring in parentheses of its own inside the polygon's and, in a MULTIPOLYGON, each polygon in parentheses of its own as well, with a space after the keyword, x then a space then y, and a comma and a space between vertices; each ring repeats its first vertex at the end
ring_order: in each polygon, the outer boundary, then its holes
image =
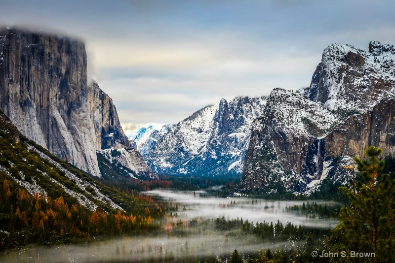
MULTIPOLYGON (((249 222, 276 223, 280 220, 283 225, 291 222, 313 228, 334 228, 336 220, 309 218, 299 215, 298 212, 289 212, 286 207, 295 204, 302 205, 303 201, 266 201, 264 199, 251 199, 246 197, 200 197, 206 195, 204 191, 178 192, 178 191, 149 191, 147 195, 154 195, 169 201, 178 209, 177 219, 190 220, 194 218, 215 219, 225 217, 226 220, 242 218, 249 222)), ((307 201, 305 201, 307 204, 307 201)), ((310 200, 310 203, 312 201, 310 200)), ((326 202, 329 206, 333 202, 326 202)), ((200 220, 200 222, 202 222, 200 220)), ((198 220, 199 221, 199 220, 198 220)), ((166 220, 162 222, 166 224, 166 220)), ((163 226, 164 226, 163 225, 163 226)), ((123 237, 118 239, 92 242, 90 244, 55 245, 29 247, 21 250, 3 252, 0 261, 10 263, 20 262, 151 262, 157 260, 179 259, 185 257, 207 257, 230 255, 235 249, 241 254, 258 253, 259 250, 293 249, 303 246, 303 241, 264 243, 255 235, 240 235, 240 231, 219 231, 215 228, 200 232, 200 226, 188 228, 194 234, 178 235, 176 232, 153 234, 143 237, 123 237), (194 229, 195 228, 195 229, 194 229), (193 231, 197 230, 199 231, 193 231)), ((191 232, 190 232, 191 233, 191 232)), ((92 237, 92 241, 95 237, 92 237)))

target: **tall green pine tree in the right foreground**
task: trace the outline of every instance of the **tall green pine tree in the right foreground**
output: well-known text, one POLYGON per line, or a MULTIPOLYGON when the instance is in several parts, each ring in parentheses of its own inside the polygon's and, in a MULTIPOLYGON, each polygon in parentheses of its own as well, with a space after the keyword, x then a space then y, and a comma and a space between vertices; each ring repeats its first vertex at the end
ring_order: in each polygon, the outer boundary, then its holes
POLYGON ((392 262, 395 258, 395 182, 389 174, 379 175, 385 165, 377 158, 382 152, 371 146, 365 151, 367 161, 354 158, 363 180, 356 182, 355 194, 352 189, 340 188, 352 204, 342 208, 334 236, 339 239, 339 249, 375 253, 365 262, 392 262))

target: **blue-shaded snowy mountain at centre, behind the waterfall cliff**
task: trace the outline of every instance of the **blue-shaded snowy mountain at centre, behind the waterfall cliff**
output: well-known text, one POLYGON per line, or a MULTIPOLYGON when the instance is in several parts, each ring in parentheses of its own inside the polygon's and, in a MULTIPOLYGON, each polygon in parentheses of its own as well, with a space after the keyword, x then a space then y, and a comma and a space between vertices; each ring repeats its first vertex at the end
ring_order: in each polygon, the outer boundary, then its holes
POLYGON ((237 97, 206 106, 171 128, 145 160, 166 174, 239 175, 252 121, 265 103, 264 97, 237 97))

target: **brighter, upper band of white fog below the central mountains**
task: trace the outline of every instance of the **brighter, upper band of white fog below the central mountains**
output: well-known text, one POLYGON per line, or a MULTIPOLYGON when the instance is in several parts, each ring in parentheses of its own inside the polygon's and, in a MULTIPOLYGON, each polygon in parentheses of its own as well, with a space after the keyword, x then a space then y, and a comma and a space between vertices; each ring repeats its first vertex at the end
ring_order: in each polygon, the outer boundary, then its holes
MULTIPOLYGON (((178 204, 176 211, 178 218, 193 219, 193 218, 221 218, 226 220, 242 218, 249 222, 273 222, 277 220, 285 225, 291 222, 294 225, 301 225, 314 228, 334 228, 338 223, 337 220, 327 220, 318 218, 309 218, 306 216, 297 215, 297 213, 286 211, 286 206, 301 206, 303 202, 307 201, 266 201, 264 199, 251 199, 246 197, 200 197, 200 194, 205 196, 204 191, 196 192, 179 192, 179 191, 164 191, 153 190, 144 192, 147 195, 162 197, 164 201, 171 201, 174 206, 178 204), (195 193, 195 195, 194 195, 195 193), (254 203, 252 203, 254 201, 254 203), (232 204, 231 204, 232 202, 232 204), (233 204, 236 202, 236 204, 233 204), (185 209, 184 209, 185 205, 185 209), (266 208, 265 208, 266 207, 266 208)), ((309 200, 312 203, 312 200, 309 200)), ((317 201, 320 203, 321 201, 317 201)), ((334 205, 331 201, 322 201, 329 207, 334 205)))

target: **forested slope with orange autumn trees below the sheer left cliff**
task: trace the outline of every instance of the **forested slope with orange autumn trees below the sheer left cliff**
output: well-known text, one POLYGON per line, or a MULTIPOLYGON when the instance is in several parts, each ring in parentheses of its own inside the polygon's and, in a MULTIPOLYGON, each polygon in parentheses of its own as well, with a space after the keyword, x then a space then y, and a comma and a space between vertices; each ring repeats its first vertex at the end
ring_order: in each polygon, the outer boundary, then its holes
POLYGON ((0 251, 152 231, 162 208, 151 197, 103 186, 21 135, 0 113, 0 251))

